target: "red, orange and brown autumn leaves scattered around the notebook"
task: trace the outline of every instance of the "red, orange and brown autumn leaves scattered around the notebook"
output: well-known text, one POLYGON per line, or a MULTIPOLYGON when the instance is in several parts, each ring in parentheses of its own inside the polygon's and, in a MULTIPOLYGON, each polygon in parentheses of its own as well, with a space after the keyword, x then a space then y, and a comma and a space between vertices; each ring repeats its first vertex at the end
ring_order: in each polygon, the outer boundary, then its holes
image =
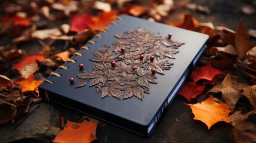
MULTIPOLYGON (((211 12, 196 4, 187 8, 211 12)), ((148 4, 67 0, 1 2, 0 123, 13 122, 18 126, 16 117, 31 114, 30 106, 42 102, 38 94, 42 81, 118 14, 164 22, 172 11, 174 2, 168 0, 148 4)), ((168 24, 209 35, 205 54, 178 94, 187 99, 186 105, 192 109, 194 119, 201 120, 208 129, 220 121, 230 123, 233 126, 230 141, 256 142, 256 123, 252 122, 256 114, 256 43, 249 41, 249 35, 255 36, 254 29, 246 31, 242 19, 234 31, 212 23, 199 23, 190 14, 168 24)), ((78 139, 84 136, 83 141, 87 142, 96 139, 99 122, 84 119, 88 118, 83 117, 81 123, 62 123, 64 129, 53 141, 75 141, 72 136, 78 139)))

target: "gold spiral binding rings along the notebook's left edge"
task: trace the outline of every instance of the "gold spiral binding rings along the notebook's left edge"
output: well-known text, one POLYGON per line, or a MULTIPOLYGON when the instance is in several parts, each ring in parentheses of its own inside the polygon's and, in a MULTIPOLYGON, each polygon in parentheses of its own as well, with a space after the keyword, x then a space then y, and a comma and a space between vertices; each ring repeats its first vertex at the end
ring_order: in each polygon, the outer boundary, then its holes
MULTIPOLYGON (((118 16, 118 17, 116 17, 116 20, 123 20, 123 18, 120 17, 120 16, 118 16)), ((112 21, 111 24, 117 25, 118 23, 117 23, 116 21, 112 21)), ((100 30, 100 32, 104 32, 104 33, 107 33, 107 32, 109 32, 109 31, 110 31, 109 27, 104 27, 103 29, 100 30)), ((96 34, 95 37, 97 37, 97 38, 103 38, 103 36, 100 35, 100 34, 96 34)), ((90 40, 90 41, 88 41, 87 43, 95 44, 96 42, 90 40)), ((88 49, 90 49, 90 48, 89 48, 88 46, 81 46, 80 49, 88 50, 88 49)), ((78 55, 79 57, 82 57, 84 54, 81 54, 80 52, 75 52, 73 55, 78 55)), ((76 63, 75 60, 70 59, 70 58, 69 58, 67 61, 68 61, 68 62, 71 62, 71 63, 76 63)), ((58 68, 64 69, 64 70, 69 69, 69 67, 66 67, 66 66, 58 66, 58 68)), ((57 76, 57 77, 60 77, 60 76, 61 76, 61 74, 58 74, 58 73, 55 73, 55 72, 52 72, 50 75, 51 75, 51 76, 57 76)), ((51 82, 50 80, 44 79, 44 81, 53 84, 53 82, 51 82)), ((47 92, 47 91, 45 91, 45 98, 46 98, 47 101, 50 101, 50 98, 49 98, 49 95, 48 95, 48 92, 47 92)))

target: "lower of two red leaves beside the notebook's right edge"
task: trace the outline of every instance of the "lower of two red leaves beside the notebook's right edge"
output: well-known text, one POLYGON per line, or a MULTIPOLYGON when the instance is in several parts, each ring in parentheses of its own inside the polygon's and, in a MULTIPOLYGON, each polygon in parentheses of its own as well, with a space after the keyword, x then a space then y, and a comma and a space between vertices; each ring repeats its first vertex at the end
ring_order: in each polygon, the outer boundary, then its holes
POLYGON ((204 89, 205 89, 205 85, 199 86, 193 82, 189 82, 182 86, 178 94, 183 96, 190 102, 193 98, 196 98, 196 96, 201 94, 204 89))

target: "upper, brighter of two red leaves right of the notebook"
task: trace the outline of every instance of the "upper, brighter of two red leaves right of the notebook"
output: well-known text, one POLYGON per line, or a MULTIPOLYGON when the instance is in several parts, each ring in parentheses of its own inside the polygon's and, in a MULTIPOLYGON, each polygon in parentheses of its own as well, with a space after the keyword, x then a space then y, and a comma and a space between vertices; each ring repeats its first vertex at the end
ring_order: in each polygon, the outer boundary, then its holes
POLYGON ((197 69, 193 70, 190 78, 193 79, 194 82, 198 82, 198 80, 200 79, 212 81, 214 77, 220 74, 226 74, 226 73, 223 73, 218 69, 215 69, 214 67, 211 66, 210 63, 208 63, 206 66, 198 67, 197 69))

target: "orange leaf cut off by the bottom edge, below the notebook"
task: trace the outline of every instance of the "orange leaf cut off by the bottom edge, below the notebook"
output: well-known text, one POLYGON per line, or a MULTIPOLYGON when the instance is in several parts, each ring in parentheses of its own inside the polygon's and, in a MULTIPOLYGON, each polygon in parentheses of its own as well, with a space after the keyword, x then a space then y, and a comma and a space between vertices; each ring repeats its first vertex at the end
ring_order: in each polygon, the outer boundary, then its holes
POLYGON ((58 132, 53 142, 92 142, 95 137, 97 124, 84 120, 82 123, 70 122, 67 120, 66 127, 58 132))

